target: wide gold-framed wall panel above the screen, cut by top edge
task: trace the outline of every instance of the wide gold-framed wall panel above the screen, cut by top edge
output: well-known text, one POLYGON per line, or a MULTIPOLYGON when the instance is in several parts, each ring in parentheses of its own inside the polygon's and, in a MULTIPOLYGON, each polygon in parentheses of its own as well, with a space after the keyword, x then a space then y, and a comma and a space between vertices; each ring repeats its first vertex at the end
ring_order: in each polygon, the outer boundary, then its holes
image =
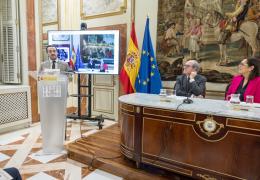
POLYGON ((94 19, 94 18, 101 18, 107 16, 115 16, 119 14, 123 14, 126 12, 127 9, 127 0, 118 0, 113 2, 104 2, 101 0, 80 0, 80 16, 81 19, 94 19), (97 2, 94 3, 93 1, 97 2), (111 4, 109 4, 111 3, 111 4), (117 3, 117 4, 112 4, 117 3), (93 7, 87 7, 86 4, 89 6, 92 5, 93 7), (103 5, 106 4, 106 5, 103 5), (115 7, 114 7, 115 6, 115 7), (98 8, 99 9, 98 9, 98 8), (102 9, 103 8, 103 9, 102 9), (93 9, 95 9, 94 12, 93 9), (86 11, 89 10, 87 14, 86 11))

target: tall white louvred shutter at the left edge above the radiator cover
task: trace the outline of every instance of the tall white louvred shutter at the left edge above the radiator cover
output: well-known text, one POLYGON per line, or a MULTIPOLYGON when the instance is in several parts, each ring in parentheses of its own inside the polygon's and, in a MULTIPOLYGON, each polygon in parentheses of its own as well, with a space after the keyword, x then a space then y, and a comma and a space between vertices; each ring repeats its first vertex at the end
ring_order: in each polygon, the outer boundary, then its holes
POLYGON ((18 0, 0 0, 0 80, 21 83, 18 0))

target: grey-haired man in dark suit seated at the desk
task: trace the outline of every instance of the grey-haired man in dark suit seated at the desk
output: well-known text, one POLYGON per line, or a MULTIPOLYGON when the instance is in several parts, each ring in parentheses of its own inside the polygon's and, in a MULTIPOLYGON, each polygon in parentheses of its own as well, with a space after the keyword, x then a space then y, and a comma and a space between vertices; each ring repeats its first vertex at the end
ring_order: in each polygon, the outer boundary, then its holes
POLYGON ((199 63, 196 60, 189 60, 183 66, 183 74, 177 77, 174 87, 176 95, 204 97, 206 78, 198 74, 200 70, 199 63))

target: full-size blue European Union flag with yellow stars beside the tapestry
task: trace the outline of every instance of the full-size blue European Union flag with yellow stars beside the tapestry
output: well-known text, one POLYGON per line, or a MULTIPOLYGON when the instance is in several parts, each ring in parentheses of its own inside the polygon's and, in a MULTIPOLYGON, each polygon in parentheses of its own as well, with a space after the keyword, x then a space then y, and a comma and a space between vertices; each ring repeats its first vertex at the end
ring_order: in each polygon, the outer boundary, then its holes
POLYGON ((154 56, 153 44, 149 29, 149 18, 146 20, 141 66, 135 81, 136 92, 159 94, 162 87, 161 76, 154 56))

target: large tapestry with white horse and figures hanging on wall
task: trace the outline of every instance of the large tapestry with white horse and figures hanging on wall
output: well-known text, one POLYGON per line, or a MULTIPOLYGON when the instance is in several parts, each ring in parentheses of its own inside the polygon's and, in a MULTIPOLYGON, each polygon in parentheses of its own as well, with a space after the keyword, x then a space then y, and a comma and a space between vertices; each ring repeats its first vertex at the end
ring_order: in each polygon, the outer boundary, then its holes
POLYGON ((259 0, 159 0, 162 80, 175 80, 195 58, 208 82, 230 82, 243 58, 259 55, 259 17, 259 0))

